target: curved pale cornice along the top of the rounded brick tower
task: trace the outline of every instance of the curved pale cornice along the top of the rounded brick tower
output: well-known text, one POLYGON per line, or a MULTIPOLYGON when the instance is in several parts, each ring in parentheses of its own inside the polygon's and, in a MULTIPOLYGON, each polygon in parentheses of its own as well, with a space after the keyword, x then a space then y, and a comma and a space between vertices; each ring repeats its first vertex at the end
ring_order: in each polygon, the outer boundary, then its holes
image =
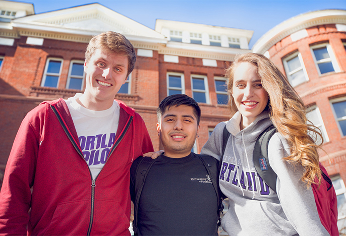
POLYGON ((253 52, 264 54, 278 41, 302 29, 322 24, 346 24, 345 10, 308 12, 276 25, 265 33, 252 47, 253 52))

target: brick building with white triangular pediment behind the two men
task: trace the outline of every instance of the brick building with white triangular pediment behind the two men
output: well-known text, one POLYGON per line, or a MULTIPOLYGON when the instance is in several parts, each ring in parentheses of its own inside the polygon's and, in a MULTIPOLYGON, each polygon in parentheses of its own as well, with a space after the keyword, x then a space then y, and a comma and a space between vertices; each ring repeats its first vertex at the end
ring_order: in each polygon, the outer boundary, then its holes
POLYGON ((185 93, 201 106, 195 152, 216 124, 229 119, 224 69, 236 54, 250 51, 253 31, 165 20, 152 30, 100 4, 35 14, 32 4, 1 0, 1 171, 29 110, 83 91, 87 43, 108 30, 124 34, 136 48, 135 69, 116 99, 141 114, 156 150, 156 108, 169 94, 185 93))

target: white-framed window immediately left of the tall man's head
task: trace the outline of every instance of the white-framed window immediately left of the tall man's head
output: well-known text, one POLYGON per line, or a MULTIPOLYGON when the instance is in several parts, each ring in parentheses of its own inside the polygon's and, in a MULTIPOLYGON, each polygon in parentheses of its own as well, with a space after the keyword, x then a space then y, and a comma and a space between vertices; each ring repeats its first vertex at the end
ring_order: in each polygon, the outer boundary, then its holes
POLYGON ((83 61, 71 61, 69 77, 67 78, 67 89, 83 89, 84 83, 84 62, 83 61))

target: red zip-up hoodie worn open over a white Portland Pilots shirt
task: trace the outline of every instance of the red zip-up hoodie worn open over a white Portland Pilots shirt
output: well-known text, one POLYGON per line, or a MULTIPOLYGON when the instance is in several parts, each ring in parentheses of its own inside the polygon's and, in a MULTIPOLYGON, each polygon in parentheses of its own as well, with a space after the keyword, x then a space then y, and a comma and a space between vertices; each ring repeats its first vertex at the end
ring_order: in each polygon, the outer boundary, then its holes
POLYGON ((1 235, 130 235, 130 166, 153 146, 142 117, 118 103, 116 140, 95 181, 65 101, 28 112, 6 165, 1 235))

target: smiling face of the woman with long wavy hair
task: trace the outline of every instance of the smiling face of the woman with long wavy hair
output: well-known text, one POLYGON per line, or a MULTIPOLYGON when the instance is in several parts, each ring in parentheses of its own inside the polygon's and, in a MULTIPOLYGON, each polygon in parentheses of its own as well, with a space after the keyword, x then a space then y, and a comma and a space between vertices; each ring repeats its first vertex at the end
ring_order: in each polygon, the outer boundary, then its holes
POLYGON ((268 93, 262 88, 256 66, 248 62, 238 65, 234 72, 232 96, 242 114, 241 129, 244 129, 256 120, 268 103, 268 93))

